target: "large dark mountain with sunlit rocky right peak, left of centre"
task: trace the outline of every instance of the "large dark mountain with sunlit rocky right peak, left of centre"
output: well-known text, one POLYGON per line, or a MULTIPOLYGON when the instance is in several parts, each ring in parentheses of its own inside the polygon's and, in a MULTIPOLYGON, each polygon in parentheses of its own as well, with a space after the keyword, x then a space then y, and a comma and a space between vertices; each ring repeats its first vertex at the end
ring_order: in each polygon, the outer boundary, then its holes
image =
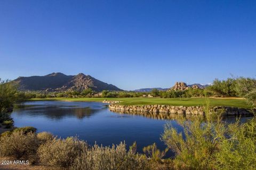
POLYGON ((122 91, 113 84, 102 82, 83 73, 77 75, 51 73, 44 76, 19 77, 12 82, 18 84, 19 89, 24 91, 82 91, 88 88, 94 91, 122 91))

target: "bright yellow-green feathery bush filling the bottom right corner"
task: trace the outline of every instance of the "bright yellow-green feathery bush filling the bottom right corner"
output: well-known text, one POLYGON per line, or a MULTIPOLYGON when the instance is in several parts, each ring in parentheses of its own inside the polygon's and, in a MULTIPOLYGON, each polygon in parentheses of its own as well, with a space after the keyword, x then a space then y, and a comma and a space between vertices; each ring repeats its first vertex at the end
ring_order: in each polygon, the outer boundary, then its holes
POLYGON ((227 129, 229 138, 221 138, 214 155, 215 169, 256 169, 256 117, 227 129))

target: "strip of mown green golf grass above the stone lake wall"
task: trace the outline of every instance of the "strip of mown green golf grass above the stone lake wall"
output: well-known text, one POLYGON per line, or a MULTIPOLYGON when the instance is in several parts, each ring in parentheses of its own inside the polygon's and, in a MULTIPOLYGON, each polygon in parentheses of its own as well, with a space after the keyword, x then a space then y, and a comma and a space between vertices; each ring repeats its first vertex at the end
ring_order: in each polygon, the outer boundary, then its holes
MULTIPOLYGON (((31 99, 37 100, 60 100, 60 101, 103 101, 103 100, 122 101, 122 105, 172 105, 172 106, 202 106, 205 104, 205 98, 45 98, 31 99)), ((248 107, 245 99, 241 98, 210 98, 211 106, 234 106, 248 107)))

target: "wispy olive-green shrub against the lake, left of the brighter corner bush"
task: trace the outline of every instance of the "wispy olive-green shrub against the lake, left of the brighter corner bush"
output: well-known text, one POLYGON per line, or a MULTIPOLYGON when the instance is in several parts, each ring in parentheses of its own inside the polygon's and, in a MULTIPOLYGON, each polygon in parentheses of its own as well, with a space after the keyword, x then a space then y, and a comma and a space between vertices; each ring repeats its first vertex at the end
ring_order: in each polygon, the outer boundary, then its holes
POLYGON ((209 133, 210 129, 201 127, 198 121, 184 122, 181 125, 185 134, 166 125, 162 137, 165 144, 176 153, 173 160, 175 168, 211 169, 209 160, 212 152, 217 149, 217 143, 212 140, 214 137, 209 133))

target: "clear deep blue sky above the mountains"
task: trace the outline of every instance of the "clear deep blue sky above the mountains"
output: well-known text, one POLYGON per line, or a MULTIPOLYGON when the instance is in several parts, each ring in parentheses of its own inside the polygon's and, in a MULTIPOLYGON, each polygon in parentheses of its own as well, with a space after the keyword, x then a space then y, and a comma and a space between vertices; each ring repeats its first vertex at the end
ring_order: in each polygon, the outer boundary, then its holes
POLYGON ((255 77, 256 1, 0 0, 0 64, 125 90, 255 77))

